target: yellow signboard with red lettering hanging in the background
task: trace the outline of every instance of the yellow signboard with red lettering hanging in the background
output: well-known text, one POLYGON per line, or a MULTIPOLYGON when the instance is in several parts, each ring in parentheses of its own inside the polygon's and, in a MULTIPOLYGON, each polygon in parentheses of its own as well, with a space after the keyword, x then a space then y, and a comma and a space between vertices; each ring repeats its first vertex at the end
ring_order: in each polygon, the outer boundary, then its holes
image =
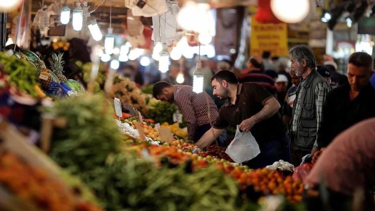
POLYGON ((286 23, 261 24, 251 18, 250 55, 261 56, 270 51, 272 56, 288 57, 288 28, 286 23))

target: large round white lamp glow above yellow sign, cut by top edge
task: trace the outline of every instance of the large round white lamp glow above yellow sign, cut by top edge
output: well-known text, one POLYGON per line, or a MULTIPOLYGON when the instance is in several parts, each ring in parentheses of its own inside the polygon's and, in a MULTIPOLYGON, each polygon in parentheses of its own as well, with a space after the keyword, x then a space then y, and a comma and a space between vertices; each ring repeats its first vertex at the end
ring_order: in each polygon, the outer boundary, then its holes
POLYGON ((271 10, 276 18, 285 23, 298 23, 309 14, 310 2, 309 0, 271 0, 271 10))

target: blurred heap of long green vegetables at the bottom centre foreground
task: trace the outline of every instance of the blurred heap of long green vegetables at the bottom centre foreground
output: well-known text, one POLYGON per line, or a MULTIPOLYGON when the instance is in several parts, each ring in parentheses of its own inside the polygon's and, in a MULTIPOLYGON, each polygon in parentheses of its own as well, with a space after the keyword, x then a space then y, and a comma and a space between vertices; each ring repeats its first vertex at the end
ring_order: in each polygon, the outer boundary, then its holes
POLYGON ((108 211, 234 211, 239 189, 215 166, 186 173, 151 161, 119 154, 107 163, 100 198, 108 211))

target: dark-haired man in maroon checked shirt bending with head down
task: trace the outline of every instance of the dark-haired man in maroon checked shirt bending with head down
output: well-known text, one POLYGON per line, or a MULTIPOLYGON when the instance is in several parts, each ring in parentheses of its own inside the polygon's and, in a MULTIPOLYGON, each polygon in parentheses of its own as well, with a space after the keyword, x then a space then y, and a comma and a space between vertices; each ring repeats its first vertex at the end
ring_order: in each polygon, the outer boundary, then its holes
POLYGON ((154 84, 154 98, 175 103, 187 123, 189 140, 198 141, 219 116, 213 99, 206 93, 193 92, 192 86, 172 85, 165 81, 154 84))

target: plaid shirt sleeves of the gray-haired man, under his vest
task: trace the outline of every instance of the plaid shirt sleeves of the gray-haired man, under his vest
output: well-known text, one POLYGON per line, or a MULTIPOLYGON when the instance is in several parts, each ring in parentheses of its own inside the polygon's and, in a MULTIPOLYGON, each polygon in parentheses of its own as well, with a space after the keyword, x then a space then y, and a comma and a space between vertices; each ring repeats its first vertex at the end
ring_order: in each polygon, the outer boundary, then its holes
MULTIPOLYGON (((292 132, 297 131, 298 120, 301 117, 301 101, 303 101, 303 99, 301 99, 301 95, 304 92, 304 89, 306 89, 306 87, 301 86, 301 84, 304 84, 305 82, 306 82, 306 79, 302 80, 300 85, 297 88, 299 89, 299 93, 298 93, 296 100, 294 101, 294 106, 293 106, 294 116, 292 119, 292 132)), ((330 90, 331 90, 331 87, 327 83, 324 83, 324 82, 318 83, 317 86, 315 87, 315 104, 317 107, 317 131, 319 131, 320 123, 322 119, 323 103, 330 90)), ((318 147, 317 140, 315 140, 314 147, 318 147)))

